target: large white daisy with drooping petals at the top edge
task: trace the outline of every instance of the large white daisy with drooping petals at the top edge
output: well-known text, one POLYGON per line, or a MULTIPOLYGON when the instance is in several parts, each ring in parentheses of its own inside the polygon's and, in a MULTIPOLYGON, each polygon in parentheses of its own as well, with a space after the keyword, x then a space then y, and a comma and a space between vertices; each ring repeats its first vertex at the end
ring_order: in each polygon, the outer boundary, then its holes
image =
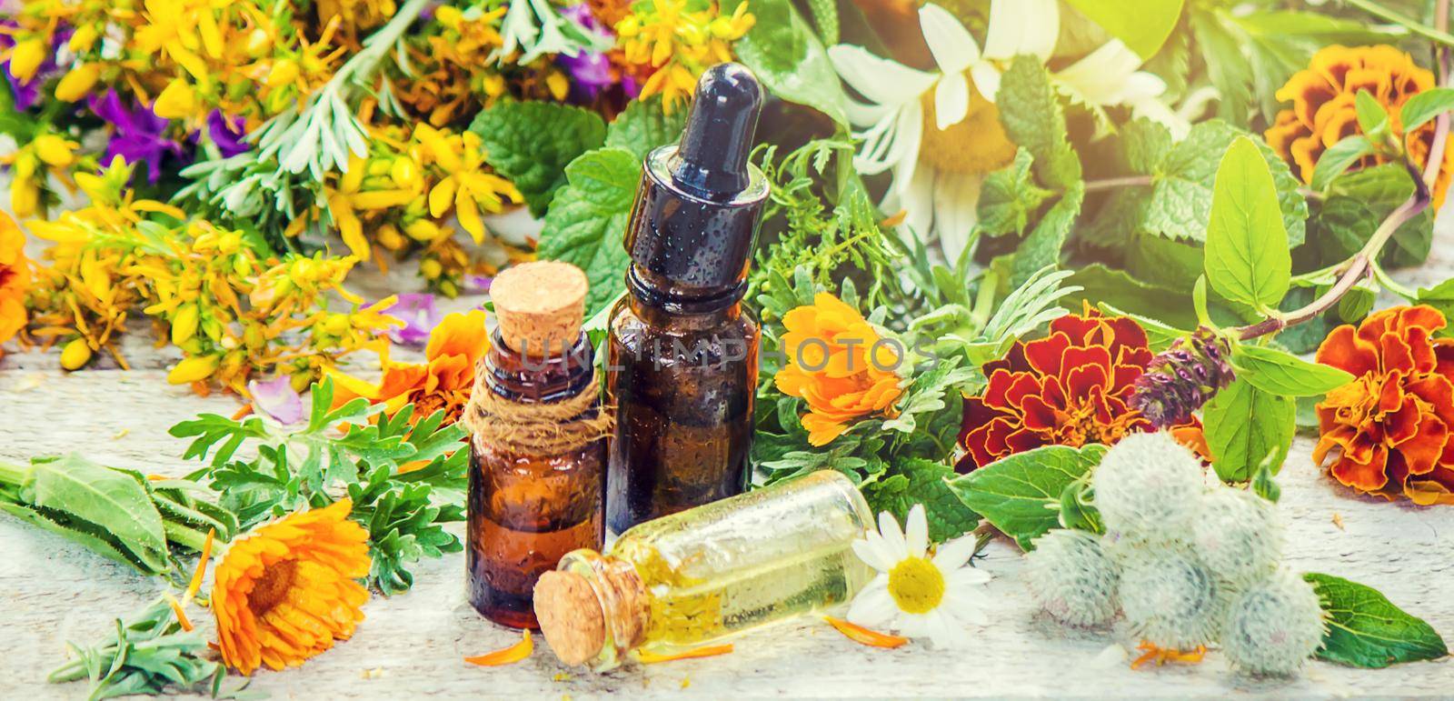
MULTIPOLYGON (((904 225, 938 240, 955 262, 979 221, 984 176, 1008 166, 1015 144, 1005 135, 995 100, 1000 73, 1021 54, 1047 61, 1060 35, 1059 0, 993 0, 984 48, 938 4, 919 9, 919 26, 936 70, 920 71, 862 47, 829 48, 833 68, 865 102, 849 100, 853 166, 893 172, 884 209, 906 211, 904 225)), ((1092 106, 1128 105, 1138 116, 1176 118, 1154 97, 1165 83, 1137 71, 1141 61, 1120 41, 1054 76, 1059 89, 1092 106)), ((1173 131, 1178 131, 1173 128, 1173 131)))

